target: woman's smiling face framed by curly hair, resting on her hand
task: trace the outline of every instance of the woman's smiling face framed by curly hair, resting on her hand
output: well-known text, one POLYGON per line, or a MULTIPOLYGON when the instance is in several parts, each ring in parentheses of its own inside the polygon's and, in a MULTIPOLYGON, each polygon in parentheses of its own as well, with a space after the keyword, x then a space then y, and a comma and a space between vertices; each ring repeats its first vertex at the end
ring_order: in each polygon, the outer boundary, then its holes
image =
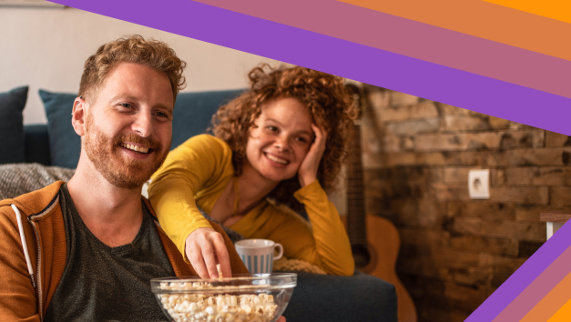
POLYGON ((312 122, 308 108, 298 99, 271 100, 254 120, 244 166, 276 184, 295 176, 315 136, 312 122))

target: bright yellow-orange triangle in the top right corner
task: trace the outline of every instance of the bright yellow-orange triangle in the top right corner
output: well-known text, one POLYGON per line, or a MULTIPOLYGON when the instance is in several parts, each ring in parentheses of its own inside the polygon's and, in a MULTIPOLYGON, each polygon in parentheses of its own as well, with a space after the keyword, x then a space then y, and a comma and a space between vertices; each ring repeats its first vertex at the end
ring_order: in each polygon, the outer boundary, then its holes
POLYGON ((545 16, 566 23, 571 23, 571 1, 569 0, 484 0, 495 5, 525 11, 526 13, 545 16))

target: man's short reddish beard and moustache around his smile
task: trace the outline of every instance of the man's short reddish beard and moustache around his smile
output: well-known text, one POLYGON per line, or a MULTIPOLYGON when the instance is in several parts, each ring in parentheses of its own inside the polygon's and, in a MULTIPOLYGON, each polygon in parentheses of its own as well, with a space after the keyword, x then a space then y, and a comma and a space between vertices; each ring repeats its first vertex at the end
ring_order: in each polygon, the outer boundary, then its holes
MULTIPOLYGON (((113 186, 134 189, 143 184, 162 166, 168 156, 168 148, 158 141, 133 134, 107 136, 93 124, 92 117, 87 116, 86 136, 82 141, 87 157, 101 176, 113 186), (123 155, 120 146, 123 142, 138 143, 149 147, 152 153, 147 160, 138 160, 123 155)), ((170 146, 170 143, 168 144, 170 146)))

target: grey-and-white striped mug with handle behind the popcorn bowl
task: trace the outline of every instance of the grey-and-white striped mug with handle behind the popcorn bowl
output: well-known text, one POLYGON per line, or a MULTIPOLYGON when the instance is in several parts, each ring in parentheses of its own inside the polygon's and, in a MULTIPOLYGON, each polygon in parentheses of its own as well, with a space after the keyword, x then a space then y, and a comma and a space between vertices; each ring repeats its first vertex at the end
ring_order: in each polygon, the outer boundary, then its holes
POLYGON ((252 274, 271 273, 274 259, 280 259, 283 256, 281 244, 269 239, 244 239, 237 242, 234 246, 244 265, 248 267, 252 274), (278 255, 273 257, 276 247, 280 249, 278 250, 278 255))

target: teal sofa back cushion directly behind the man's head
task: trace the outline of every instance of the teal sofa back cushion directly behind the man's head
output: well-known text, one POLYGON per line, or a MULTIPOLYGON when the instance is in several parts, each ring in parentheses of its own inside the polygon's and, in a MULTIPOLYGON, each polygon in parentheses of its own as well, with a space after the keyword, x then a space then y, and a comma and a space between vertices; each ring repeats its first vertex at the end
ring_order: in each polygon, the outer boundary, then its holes
MULTIPOLYGON (((170 148, 179 146, 190 136, 204 133, 219 106, 228 103, 241 92, 242 90, 229 90, 178 94, 170 148)), ((51 165, 76 168, 81 152, 81 140, 71 126, 71 111, 76 94, 52 93, 42 89, 39 94, 46 109, 51 165)))

